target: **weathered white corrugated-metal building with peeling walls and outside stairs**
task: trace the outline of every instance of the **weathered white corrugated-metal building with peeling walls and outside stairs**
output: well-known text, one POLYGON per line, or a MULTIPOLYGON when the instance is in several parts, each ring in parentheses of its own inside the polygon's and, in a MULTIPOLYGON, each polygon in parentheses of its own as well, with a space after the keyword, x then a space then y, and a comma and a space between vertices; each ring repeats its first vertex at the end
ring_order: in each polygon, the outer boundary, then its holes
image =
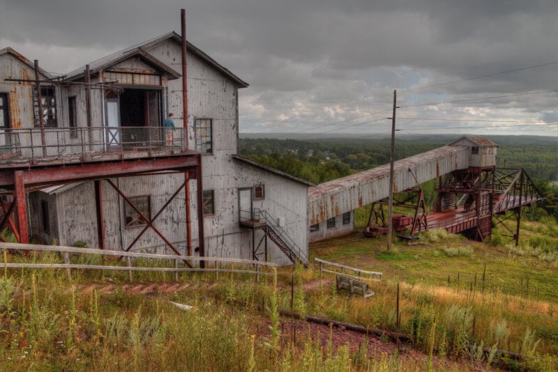
MULTIPOLYGON (((113 148, 150 153, 148 144, 154 142, 166 141, 167 151, 187 144, 186 148, 202 153, 203 206, 192 199, 190 225, 191 236, 198 236, 197 208, 203 208, 206 256, 260 260, 266 256, 282 264, 292 263, 296 256, 305 261, 308 187, 312 184, 236 155, 239 89, 248 84, 189 43, 188 117, 182 117, 181 50, 181 37, 171 32, 89 63, 88 74, 84 67, 52 79, 52 86, 43 82, 40 97, 45 129, 41 134, 46 132, 47 140, 56 136, 56 144, 68 153, 97 146, 96 142, 93 145, 97 137, 105 153, 113 148), (176 127, 184 130, 163 129, 171 112, 176 127)), ((40 79, 52 78, 42 70, 41 75, 40 79)), ((0 141, 15 138, 11 128, 38 125, 33 78, 30 61, 13 49, 2 49, 0 130, 5 131, 0 133, 0 141), (5 79, 17 81, 3 84, 5 79)), ((29 144, 34 135, 25 137, 20 131, 17 139, 27 138, 29 144)), ((20 153, 11 146, 3 156, 18 157, 28 148, 40 152, 40 137, 35 141, 35 145, 21 146, 20 153)), ((51 150, 48 147, 45 154, 50 155, 51 150)), ((95 218, 93 182, 43 187, 28 196, 29 235, 46 242, 56 238, 60 245, 85 243, 89 247, 100 247, 99 237, 103 236, 106 249, 165 251, 164 235, 186 254, 184 179, 180 173, 162 171, 155 176, 102 180, 102 235, 95 218), (123 194, 152 220, 154 228, 149 228, 123 194)), ((189 185, 190 194, 196 195, 195 183, 189 185)), ((193 238, 193 247, 198 245, 193 238)))

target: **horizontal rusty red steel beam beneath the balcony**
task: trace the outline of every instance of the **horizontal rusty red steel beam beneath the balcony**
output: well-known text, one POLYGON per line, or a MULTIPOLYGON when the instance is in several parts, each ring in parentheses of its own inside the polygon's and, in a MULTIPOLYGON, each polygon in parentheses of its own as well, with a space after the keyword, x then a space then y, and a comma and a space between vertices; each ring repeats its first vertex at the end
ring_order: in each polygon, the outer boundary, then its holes
MULTIPOLYGON (((82 180, 95 180, 107 177, 140 176, 156 171, 172 169, 188 170, 198 166, 199 156, 165 157, 149 160, 129 160, 101 163, 59 164, 47 168, 30 168, 22 170, 26 185, 48 185, 70 183, 82 180)), ((0 173, 0 186, 13 185, 11 171, 0 173), (10 179, 11 178, 11 179, 10 179)))

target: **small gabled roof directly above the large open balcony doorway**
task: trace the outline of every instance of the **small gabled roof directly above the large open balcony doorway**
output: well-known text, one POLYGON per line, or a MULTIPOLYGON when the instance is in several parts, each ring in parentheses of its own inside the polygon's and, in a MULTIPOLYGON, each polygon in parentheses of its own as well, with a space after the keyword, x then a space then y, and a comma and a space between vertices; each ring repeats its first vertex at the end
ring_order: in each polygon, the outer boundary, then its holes
MULTIPOLYGON (((157 68, 162 72, 165 72, 165 74, 169 76, 169 79, 178 79, 179 77, 182 76, 172 68, 169 68, 169 66, 163 63, 163 61, 159 61, 154 56, 145 52, 141 48, 130 49, 126 52, 122 51, 122 52, 114 53, 103 59, 98 59, 97 61, 93 61, 92 63, 89 63, 89 70, 91 74, 94 74, 99 70, 106 70, 107 68, 110 68, 112 65, 116 65, 117 63, 125 61, 126 59, 130 59, 134 56, 139 56, 141 59, 144 59, 144 61, 146 61, 149 65, 152 65, 154 68, 157 68)), ((73 70, 68 75, 66 75, 65 80, 81 79, 85 75, 84 70, 85 67, 81 68, 81 71, 80 69, 73 70)))

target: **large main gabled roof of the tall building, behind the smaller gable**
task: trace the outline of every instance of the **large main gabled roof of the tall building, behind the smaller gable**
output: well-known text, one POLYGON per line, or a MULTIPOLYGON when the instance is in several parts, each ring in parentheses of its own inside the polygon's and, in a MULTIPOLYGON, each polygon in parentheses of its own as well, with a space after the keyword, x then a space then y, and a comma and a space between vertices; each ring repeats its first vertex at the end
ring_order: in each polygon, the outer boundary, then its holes
MULTIPOLYGON (((98 70, 102 70, 103 68, 105 68, 107 66, 114 65, 115 63, 118 63, 119 61, 123 61, 123 59, 127 59, 130 56, 133 56, 135 54, 135 52, 138 52, 138 51, 142 51, 142 52, 144 52, 144 54, 149 55, 147 52, 145 52, 145 49, 149 49, 150 47, 153 47, 153 45, 157 45, 158 43, 163 42, 165 40, 173 40, 174 42, 178 43, 179 45, 181 44, 181 36, 178 33, 174 32, 174 31, 171 31, 169 33, 165 33, 164 35, 158 36, 157 38, 153 38, 153 39, 148 40, 146 42, 142 42, 140 44, 133 45, 132 47, 128 47, 128 48, 123 49, 119 52, 116 52, 116 53, 110 54, 108 56, 105 56, 102 59, 98 59, 96 61, 93 61, 93 62, 89 63, 89 69, 91 70, 91 72, 96 72, 98 70)), ((248 83, 241 80, 239 77, 237 77, 232 72, 230 72, 227 68, 223 67, 223 65, 220 65, 219 63, 217 63, 217 61, 212 59, 206 53, 202 52, 201 49, 199 49, 195 45, 191 44, 190 42, 186 42, 186 49, 187 49, 188 53, 194 54, 199 59, 202 59, 202 61, 204 61, 205 63, 210 65, 212 68, 214 68, 215 70, 220 72, 222 75, 225 75, 225 77, 231 79, 234 83, 236 83, 237 86, 239 86, 239 88, 246 88, 248 86, 248 83)), ((153 56, 151 56, 151 58, 155 59, 155 57, 153 57, 153 56)), ((155 60, 158 61, 157 59, 155 59, 155 60)), ((159 63, 163 63, 163 62, 159 61, 159 63)), ((167 66, 167 68, 169 68, 169 67, 167 66)), ((66 75, 67 76, 66 79, 69 79, 69 80, 78 79, 78 78, 80 78, 84 75, 84 70, 85 70, 85 66, 83 66, 81 68, 77 68, 76 70, 73 70, 72 72, 68 73, 68 75, 66 75)), ((176 74, 176 71, 174 73, 176 74)))

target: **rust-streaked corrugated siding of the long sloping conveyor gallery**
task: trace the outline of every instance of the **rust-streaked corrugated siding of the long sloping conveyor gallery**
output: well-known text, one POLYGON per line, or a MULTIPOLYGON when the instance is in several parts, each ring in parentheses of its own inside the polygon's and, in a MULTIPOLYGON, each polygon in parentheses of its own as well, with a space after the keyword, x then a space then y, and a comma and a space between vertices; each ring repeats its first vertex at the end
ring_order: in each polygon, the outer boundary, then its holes
MULTIPOLYGON (((416 185, 409 169, 418 183, 424 183, 455 169, 467 169, 468 159, 466 146, 444 146, 398 160, 394 164, 393 189, 400 192, 416 185)), ((387 196, 389 164, 310 187, 308 219, 310 224, 317 224, 387 196)))

